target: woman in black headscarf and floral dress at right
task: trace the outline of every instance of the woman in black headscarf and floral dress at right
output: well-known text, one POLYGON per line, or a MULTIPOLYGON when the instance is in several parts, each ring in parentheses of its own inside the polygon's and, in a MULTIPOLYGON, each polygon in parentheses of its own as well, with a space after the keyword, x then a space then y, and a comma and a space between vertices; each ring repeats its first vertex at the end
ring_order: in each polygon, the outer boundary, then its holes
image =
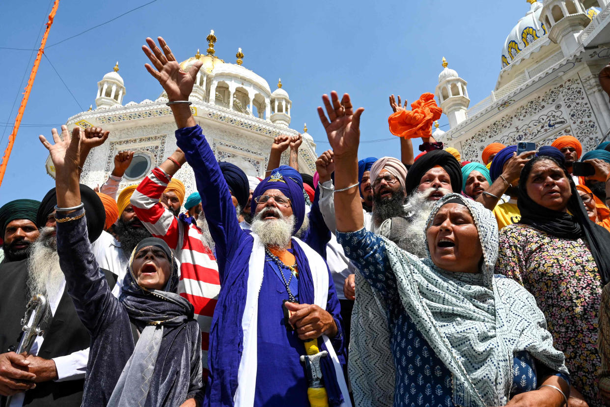
POLYGON ((570 405, 584 405, 584 398, 601 406, 597 318, 610 276, 610 234, 589 220, 572 177, 551 157, 523 167, 517 202, 522 219, 500 231, 497 272, 536 297, 577 390, 570 405))

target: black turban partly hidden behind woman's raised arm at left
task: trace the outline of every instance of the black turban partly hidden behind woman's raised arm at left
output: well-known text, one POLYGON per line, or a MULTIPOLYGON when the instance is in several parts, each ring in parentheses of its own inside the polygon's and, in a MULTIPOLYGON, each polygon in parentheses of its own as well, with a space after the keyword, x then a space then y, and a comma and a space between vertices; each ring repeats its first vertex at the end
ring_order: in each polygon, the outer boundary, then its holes
MULTIPOLYGON (((97 193, 87 185, 81 185, 81 202, 85 204, 85 217, 87 217, 87 231, 89 242, 95 242, 104 230, 106 223, 106 209, 97 193)), ((46 224, 46 218, 55 210, 57 205, 57 195, 55 188, 46 193, 42 198, 40 208, 36 214, 36 226, 42 228, 46 224)))

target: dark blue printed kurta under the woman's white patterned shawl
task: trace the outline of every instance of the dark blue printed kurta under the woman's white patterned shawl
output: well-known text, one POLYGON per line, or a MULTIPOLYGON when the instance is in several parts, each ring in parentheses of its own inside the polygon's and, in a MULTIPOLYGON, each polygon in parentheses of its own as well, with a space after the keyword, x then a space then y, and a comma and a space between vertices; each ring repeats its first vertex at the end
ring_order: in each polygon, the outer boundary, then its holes
MULTIPOLYGON (((451 372, 434 353, 428 341, 418 331, 407 314, 396 278, 386 256, 386 244, 381 236, 361 229, 356 232, 337 232, 337 241, 348 247, 348 257, 356 264, 367 282, 386 298, 395 376, 394 406, 453 406, 451 372), (357 253, 357 256, 353 254, 357 253)), ((536 362, 527 352, 515 353, 511 396, 537 388, 537 377, 561 373, 551 372, 536 362)))

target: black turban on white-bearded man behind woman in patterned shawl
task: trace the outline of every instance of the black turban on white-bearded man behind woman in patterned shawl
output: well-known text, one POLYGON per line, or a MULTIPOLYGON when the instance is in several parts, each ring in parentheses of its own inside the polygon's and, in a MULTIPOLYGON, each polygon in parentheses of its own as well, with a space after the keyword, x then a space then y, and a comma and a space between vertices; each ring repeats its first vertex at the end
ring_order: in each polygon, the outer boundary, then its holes
POLYGON ((451 180, 451 189, 453 192, 459 193, 462 190, 462 168, 456 157, 442 149, 428 151, 415 160, 414 164, 409 168, 407 173, 406 184, 404 188, 407 195, 417 188, 422 181, 423 175, 432 167, 440 165, 443 170, 447 171, 451 180))

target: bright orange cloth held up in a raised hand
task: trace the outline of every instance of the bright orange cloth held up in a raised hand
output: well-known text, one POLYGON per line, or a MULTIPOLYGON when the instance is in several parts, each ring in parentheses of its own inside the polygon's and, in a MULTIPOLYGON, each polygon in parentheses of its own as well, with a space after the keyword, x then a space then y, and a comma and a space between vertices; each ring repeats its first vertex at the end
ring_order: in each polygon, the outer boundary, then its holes
POLYGON ((417 137, 431 137, 432 122, 439 120, 443 109, 436 105, 432 93, 424 93, 418 100, 411 103, 412 110, 398 110, 387 119, 390 133, 415 139, 417 137))

